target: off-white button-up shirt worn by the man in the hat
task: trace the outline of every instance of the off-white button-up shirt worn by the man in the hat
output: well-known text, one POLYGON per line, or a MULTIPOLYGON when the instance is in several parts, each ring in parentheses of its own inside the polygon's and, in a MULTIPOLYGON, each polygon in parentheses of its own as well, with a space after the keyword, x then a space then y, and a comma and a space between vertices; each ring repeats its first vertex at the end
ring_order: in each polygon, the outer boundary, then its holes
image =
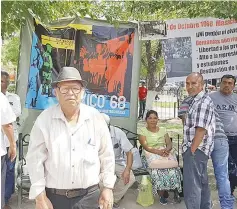
POLYGON ((69 126, 59 105, 43 111, 32 128, 26 160, 30 199, 45 187, 87 188, 101 181, 113 188, 116 180, 108 127, 99 111, 85 104, 76 127, 69 126))

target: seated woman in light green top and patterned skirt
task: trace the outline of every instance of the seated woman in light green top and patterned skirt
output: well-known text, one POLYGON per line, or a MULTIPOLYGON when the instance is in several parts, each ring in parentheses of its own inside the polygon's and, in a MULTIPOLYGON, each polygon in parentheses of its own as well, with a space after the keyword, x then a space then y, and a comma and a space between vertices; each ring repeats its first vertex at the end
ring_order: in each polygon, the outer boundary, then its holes
POLYGON ((178 193, 182 191, 182 173, 178 162, 171 154, 172 142, 165 128, 157 125, 158 114, 150 110, 146 114, 147 126, 138 130, 139 141, 142 145, 142 161, 152 180, 153 194, 160 195, 160 203, 167 204, 168 191, 174 191, 174 199, 180 202, 178 193))

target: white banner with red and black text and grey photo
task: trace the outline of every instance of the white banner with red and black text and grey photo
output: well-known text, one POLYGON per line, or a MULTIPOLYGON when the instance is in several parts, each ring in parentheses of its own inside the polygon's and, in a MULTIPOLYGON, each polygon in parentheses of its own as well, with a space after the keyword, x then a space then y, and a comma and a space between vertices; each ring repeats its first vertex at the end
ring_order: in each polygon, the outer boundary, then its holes
POLYGON ((162 40, 169 81, 183 81, 191 72, 204 79, 237 75, 237 20, 174 19, 162 40))

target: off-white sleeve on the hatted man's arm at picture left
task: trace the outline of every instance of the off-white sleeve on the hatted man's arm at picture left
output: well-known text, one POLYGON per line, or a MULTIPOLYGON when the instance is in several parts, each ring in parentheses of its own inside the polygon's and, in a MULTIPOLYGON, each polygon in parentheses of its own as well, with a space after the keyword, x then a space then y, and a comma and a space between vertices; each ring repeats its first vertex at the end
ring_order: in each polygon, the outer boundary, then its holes
POLYGON ((41 199, 46 197, 44 171, 44 162, 46 159, 47 149, 44 134, 40 128, 39 121, 36 121, 30 134, 30 143, 26 157, 27 169, 31 181, 30 199, 41 199))

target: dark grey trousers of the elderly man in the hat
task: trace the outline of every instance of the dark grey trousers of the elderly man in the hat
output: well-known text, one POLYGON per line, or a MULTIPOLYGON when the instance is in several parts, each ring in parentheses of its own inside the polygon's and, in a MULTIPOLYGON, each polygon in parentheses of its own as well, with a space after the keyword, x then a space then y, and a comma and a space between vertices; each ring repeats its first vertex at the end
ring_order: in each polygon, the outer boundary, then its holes
POLYGON ((100 190, 89 192, 84 197, 67 198, 66 196, 46 192, 54 209, 98 209, 100 190))

